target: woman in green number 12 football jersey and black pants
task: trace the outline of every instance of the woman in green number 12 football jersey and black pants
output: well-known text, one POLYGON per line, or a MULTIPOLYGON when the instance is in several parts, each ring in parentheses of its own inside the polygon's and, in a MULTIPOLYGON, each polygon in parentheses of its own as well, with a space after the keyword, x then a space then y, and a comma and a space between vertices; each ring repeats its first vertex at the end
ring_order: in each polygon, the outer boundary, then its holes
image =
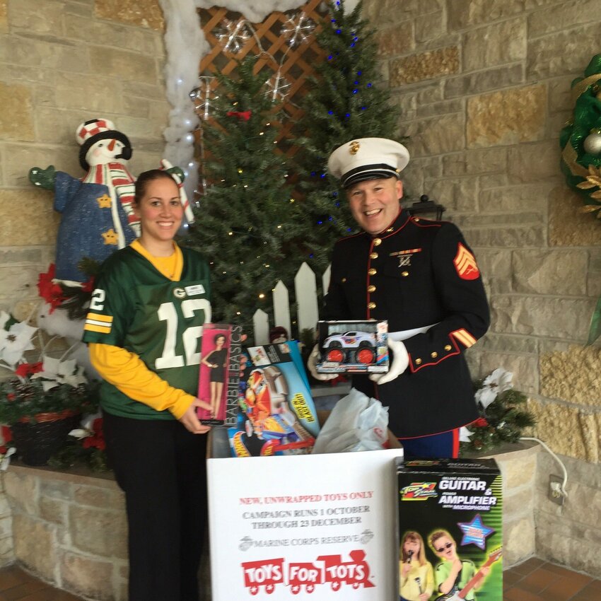
POLYGON ((206 432, 196 408, 209 269, 173 238, 183 209, 162 170, 136 182, 141 235, 105 260, 83 340, 103 377, 107 454, 125 492, 129 601, 198 601, 206 432))

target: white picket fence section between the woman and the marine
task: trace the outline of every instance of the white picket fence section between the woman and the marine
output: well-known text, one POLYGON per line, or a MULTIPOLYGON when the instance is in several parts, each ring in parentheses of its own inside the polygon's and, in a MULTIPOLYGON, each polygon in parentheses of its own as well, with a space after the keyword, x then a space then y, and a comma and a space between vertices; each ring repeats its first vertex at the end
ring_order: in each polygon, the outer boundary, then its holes
MULTIPOLYGON (((321 278, 322 291, 327 291, 329 286, 329 266, 321 278)), ((297 331, 315 329, 319 319, 317 305, 317 276, 308 264, 303 263, 294 276, 294 292, 296 294, 296 323, 297 331)), ((269 329, 275 326, 285 327, 288 334, 292 331, 291 306, 288 288, 281 280, 278 281, 273 292, 274 323, 269 324, 269 315, 262 309, 257 309, 252 316, 252 326, 255 333, 255 344, 269 344, 269 329)))

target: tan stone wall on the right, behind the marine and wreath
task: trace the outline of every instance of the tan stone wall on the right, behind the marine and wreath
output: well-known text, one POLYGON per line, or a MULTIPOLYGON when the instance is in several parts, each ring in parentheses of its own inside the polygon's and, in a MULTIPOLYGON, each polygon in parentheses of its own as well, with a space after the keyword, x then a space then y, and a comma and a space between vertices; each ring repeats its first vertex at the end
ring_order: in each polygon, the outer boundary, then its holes
MULTIPOLYGON (((601 50, 601 0, 363 6, 377 28, 399 134, 409 136, 406 192, 446 207, 484 274, 492 325, 469 351, 472 373, 512 371, 537 416, 534 435, 572 457, 573 469, 598 469, 601 349, 583 345, 601 293, 601 223, 578 213, 582 201, 559 170, 558 139, 571 118, 571 81, 601 50)), ((601 506, 598 487, 589 493, 601 506)), ((588 512, 579 523, 596 525, 597 517, 588 512)), ((571 561, 548 554, 544 532, 537 552, 571 561)), ((575 561, 595 573, 590 561, 575 561)))

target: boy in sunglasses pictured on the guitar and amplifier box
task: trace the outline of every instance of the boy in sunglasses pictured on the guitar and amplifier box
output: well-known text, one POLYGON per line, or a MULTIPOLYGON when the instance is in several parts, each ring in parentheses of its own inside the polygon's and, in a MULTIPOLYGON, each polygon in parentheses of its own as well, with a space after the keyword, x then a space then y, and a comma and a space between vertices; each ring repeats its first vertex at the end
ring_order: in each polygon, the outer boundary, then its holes
POLYGON ((482 585, 482 580, 488 575, 491 568, 481 568, 476 573, 476 567, 472 561, 460 559, 457 555, 457 543, 446 530, 433 532, 430 535, 430 546, 441 560, 434 570, 438 593, 452 596, 460 593, 469 583, 468 590, 461 598, 473 601, 476 598, 474 589, 482 585))

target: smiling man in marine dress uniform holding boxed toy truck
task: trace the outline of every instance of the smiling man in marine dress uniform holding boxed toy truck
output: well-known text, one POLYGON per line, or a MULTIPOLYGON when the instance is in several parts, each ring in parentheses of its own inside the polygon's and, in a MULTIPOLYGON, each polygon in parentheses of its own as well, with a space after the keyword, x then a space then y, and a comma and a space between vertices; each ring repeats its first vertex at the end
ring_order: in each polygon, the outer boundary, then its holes
POLYGON ((408 162, 407 148, 381 138, 329 157, 362 231, 334 245, 323 317, 388 321, 389 372, 354 375, 354 387, 388 407, 406 457, 457 457, 460 426, 478 417, 463 351, 488 329, 489 305, 459 229, 401 208, 408 162))

